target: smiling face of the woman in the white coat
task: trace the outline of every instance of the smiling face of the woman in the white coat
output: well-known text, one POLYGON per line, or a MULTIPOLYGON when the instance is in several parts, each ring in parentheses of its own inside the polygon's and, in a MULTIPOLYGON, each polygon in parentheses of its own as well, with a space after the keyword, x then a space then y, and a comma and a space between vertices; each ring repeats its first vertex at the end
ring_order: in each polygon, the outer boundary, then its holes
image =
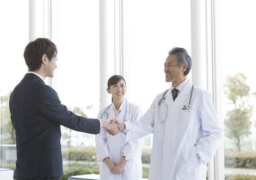
POLYGON ((110 89, 107 88, 108 94, 112 94, 113 100, 123 100, 126 93, 126 85, 124 80, 120 80, 117 84, 110 86, 110 89))

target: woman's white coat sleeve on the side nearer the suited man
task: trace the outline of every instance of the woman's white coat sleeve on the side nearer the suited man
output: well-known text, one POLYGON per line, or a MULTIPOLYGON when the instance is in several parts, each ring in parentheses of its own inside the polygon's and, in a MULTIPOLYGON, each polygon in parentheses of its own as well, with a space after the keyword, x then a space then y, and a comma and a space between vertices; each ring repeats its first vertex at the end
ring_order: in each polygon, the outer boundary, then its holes
MULTIPOLYGON (((101 111, 98 114, 100 119, 101 111)), ((95 135, 96 153, 98 162, 102 162, 104 158, 109 157, 107 134, 104 128, 100 128, 100 134, 95 135)))

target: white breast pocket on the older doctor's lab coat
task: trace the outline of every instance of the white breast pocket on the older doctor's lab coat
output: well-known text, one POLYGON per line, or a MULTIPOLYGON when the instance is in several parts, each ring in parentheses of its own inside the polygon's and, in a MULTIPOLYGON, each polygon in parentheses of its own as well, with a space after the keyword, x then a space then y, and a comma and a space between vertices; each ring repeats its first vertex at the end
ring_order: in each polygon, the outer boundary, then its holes
POLYGON ((185 110, 180 110, 180 128, 181 129, 193 128, 195 118, 196 118, 195 110, 191 110, 190 112, 186 112, 185 110))

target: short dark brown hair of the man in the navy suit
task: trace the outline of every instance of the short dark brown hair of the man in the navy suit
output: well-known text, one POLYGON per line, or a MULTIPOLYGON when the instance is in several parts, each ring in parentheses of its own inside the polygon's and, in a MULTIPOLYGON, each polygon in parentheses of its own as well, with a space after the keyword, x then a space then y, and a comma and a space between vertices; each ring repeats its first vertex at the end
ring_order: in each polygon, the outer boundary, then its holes
POLYGON ((40 69, 42 65, 42 56, 44 54, 46 54, 49 60, 57 56, 58 49, 51 40, 47 38, 37 38, 28 43, 23 56, 29 71, 40 69))

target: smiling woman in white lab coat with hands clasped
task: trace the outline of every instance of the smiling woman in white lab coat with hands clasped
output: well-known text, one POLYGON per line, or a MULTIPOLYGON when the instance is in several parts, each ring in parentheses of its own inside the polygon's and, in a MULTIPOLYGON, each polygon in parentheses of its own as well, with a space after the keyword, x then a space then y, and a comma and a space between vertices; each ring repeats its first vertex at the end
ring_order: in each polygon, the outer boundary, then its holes
MULTIPOLYGON (((142 110, 128 102, 124 96, 126 82, 122 76, 114 75, 108 80, 108 94, 112 104, 101 109, 98 119, 118 119, 121 122, 139 121, 142 110)), ((95 136, 96 152, 100 165, 100 180, 142 180, 141 148, 143 139, 124 143, 126 134, 109 135, 105 129, 95 136)))

